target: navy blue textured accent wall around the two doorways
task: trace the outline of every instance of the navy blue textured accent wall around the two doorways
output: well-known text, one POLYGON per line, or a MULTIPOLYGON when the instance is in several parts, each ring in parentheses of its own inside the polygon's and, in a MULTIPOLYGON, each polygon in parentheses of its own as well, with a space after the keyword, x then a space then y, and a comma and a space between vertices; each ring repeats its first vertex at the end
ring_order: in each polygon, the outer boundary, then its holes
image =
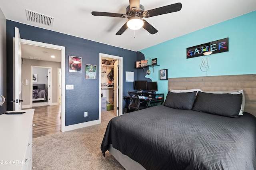
MULTIPOLYGON (((6 21, 7 38, 7 100, 13 98, 13 37, 15 27, 20 30, 20 37, 36 42, 50 43, 65 47, 65 83, 73 84, 74 90, 66 90, 66 126, 77 123, 98 120, 99 117, 99 79, 101 78, 99 53, 123 57, 123 95, 133 89, 130 82, 125 82, 125 71, 134 71, 136 51, 122 49, 103 43, 93 42, 83 38, 45 30, 38 27, 28 26, 10 20, 6 21), (82 73, 68 71, 68 56, 82 57, 82 73), (97 79, 85 79, 85 64, 97 65, 97 79), (88 111, 88 117, 84 112, 88 111)), ((73 29, 73 28, 72 28, 73 29)), ((75 28, 74 28, 75 29, 75 28)), ((125 43, 125 42, 124 42, 125 43)), ((123 101, 124 103, 124 101, 123 101)), ((7 110, 13 110, 11 102, 7 102, 7 110)))

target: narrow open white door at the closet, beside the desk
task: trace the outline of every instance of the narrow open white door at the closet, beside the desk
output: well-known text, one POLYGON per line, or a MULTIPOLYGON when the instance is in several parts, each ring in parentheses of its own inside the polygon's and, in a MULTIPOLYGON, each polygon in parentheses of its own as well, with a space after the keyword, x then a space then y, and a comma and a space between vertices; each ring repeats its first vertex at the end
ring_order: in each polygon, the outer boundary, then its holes
POLYGON ((119 110, 119 60, 114 63, 114 114, 118 116, 119 110))

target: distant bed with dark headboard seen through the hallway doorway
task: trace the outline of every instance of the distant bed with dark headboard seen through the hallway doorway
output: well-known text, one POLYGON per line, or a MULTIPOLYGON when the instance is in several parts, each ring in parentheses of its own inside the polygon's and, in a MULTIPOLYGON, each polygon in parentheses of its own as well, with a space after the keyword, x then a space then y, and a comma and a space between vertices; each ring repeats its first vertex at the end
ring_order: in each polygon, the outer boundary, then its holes
POLYGON ((47 101, 47 93, 45 91, 45 84, 33 84, 32 101, 47 101))

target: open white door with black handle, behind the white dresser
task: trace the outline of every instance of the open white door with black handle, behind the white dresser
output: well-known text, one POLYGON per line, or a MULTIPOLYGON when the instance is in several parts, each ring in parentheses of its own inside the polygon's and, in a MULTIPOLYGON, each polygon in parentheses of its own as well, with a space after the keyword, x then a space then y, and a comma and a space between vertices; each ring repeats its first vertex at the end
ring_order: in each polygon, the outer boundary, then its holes
POLYGON ((19 28, 15 27, 15 67, 14 67, 14 110, 22 110, 22 67, 21 67, 21 40, 19 28))

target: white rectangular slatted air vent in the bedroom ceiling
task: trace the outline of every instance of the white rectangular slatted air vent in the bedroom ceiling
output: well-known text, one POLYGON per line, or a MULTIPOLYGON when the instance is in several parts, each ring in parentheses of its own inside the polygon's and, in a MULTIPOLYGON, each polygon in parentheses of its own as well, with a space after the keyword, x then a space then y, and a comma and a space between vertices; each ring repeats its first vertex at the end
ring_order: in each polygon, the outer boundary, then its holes
POLYGON ((54 18, 50 16, 39 14, 30 10, 26 10, 26 14, 27 14, 28 21, 36 22, 38 24, 43 24, 45 26, 51 26, 51 27, 53 25, 54 18))

